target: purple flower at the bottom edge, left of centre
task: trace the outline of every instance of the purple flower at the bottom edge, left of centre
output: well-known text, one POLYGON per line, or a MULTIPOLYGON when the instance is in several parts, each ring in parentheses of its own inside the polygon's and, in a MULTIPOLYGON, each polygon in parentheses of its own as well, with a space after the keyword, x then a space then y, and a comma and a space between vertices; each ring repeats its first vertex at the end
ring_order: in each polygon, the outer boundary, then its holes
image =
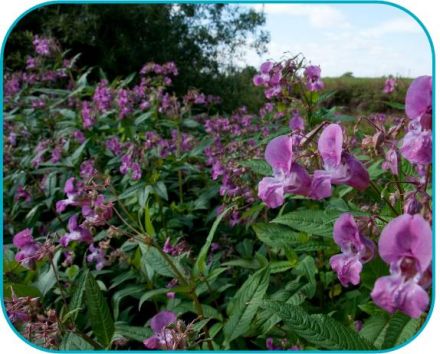
POLYGON ((174 330, 167 327, 176 323, 177 316, 171 311, 161 311, 151 318, 150 327, 154 335, 144 340, 148 349, 175 349, 174 330))

